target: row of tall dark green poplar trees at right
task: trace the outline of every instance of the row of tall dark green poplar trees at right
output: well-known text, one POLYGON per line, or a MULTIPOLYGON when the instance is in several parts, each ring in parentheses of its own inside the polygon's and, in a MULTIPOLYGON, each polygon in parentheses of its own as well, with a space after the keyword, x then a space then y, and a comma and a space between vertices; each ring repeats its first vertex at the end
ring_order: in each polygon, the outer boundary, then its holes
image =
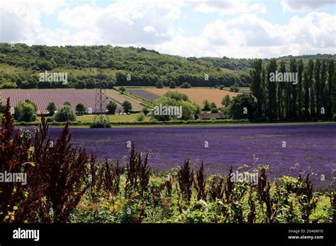
POLYGON ((250 90, 257 118, 319 119, 336 112, 336 69, 334 60, 254 60, 250 90), (271 73, 297 73, 297 83, 273 82, 271 73))

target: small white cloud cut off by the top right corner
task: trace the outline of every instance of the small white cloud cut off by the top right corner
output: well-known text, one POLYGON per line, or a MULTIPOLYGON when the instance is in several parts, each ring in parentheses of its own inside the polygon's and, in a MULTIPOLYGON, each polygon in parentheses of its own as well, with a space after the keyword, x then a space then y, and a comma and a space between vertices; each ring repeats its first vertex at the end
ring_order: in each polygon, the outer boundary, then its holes
POLYGON ((335 0, 281 0, 284 11, 292 12, 314 11, 330 4, 335 5, 335 0))

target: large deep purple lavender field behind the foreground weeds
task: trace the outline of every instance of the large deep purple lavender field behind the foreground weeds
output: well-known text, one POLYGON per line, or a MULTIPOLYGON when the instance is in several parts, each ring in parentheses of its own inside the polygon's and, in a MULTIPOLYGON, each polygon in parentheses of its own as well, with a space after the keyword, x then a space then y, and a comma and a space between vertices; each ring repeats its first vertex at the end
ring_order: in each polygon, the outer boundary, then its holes
MULTIPOLYGON (((58 136, 61 130, 50 132, 58 136)), ((211 173, 226 173, 230 166, 265 164, 270 166, 271 177, 313 172, 315 187, 330 188, 332 169, 336 169, 336 124, 73 128, 72 135, 75 146, 85 146, 99 158, 123 161, 128 155, 127 141, 134 141, 137 151, 150 153, 152 168, 160 170, 176 168, 184 158, 196 165, 203 160, 211 173), (325 175, 325 181, 320 175, 325 175)))

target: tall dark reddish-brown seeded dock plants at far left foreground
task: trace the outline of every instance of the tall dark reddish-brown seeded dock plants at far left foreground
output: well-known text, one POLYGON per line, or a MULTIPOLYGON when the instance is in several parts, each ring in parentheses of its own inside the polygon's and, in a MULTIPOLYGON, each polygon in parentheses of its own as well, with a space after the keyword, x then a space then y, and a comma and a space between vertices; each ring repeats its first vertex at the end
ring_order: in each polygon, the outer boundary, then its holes
POLYGON ((67 223, 86 191, 87 155, 71 146, 68 124, 53 146, 43 117, 35 134, 14 137, 9 100, 1 122, 1 172, 26 172, 29 182, 0 183, 0 222, 67 223), (14 137, 14 138, 13 138, 14 137))

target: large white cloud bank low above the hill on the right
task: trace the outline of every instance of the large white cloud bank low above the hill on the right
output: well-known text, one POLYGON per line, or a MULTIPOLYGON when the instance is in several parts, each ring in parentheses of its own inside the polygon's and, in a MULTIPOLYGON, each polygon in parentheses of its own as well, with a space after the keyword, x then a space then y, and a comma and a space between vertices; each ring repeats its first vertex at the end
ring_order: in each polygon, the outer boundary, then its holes
POLYGON ((217 20, 208 23, 197 37, 178 34, 153 48, 185 57, 254 58, 335 54, 334 22, 335 16, 317 12, 308 13, 303 18, 294 16, 287 25, 274 25, 254 14, 241 14, 226 22, 217 20))

